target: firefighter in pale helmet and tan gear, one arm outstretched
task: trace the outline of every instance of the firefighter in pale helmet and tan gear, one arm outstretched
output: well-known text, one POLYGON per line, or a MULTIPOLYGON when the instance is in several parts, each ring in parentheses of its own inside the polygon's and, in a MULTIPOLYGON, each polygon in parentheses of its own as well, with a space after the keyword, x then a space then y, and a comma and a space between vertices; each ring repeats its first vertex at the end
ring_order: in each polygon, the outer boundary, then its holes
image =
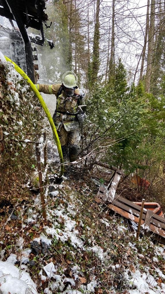
POLYGON ((78 105, 82 104, 83 95, 77 86, 77 76, 67 71, 62 77, 62 84, 37 84, 39 92, 55 94, 57 98, 53 121, 58 132, 64 158, 64 176, 69 177, 70 162, 76 161, 80 149, 79 123, 86 115, 78 105))

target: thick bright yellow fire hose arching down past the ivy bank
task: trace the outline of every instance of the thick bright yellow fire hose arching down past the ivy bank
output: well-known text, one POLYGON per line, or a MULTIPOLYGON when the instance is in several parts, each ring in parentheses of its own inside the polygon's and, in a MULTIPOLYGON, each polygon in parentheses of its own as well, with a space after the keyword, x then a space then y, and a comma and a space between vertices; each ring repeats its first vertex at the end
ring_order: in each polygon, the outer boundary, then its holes
POLYGON ((60 168, 60 173, 58 175, 58 177, 60 178, 63 173, 64 173, 64 164, 63 164, 63 153, 62 153, 62 149, 61 149, 61 144, 60 144, 60 140, 58 138, 58 133, 56 131, 56 128, 55 128, 55 125, 54 125, 54 122, 53 122, 53 118, 51 117, 51 114, 49 112, 49 109, 45 103, 45 101, 43 100, 41 94, 38 92, 36 86, 33 84, 33 82, 30 80, 30 78, 24 73, 24 71, 16 64, 14 63, 11 59, 9 59, 8 57, 6 57, 6 61, 10 61, 12 64, 14 64, 14 68, 15 70, 27 81, 27 83, 30 85, 31 89, 33 90, 33 92, 36 94, 38 100, 40 101, 41 103, 41 106, 43 108, 43 110, 45 111, 46 113, 46 116, 48 118, 48 121, 50 123, 50 126, 52 128, 52 131, 53 131, 53 137, 55 139, 55 142, 56 142, 56 145, 57 145, 57 148, 58 148, 58 154, 59 154, 59 157, 60 157, 60 164, 61 164, 61 168, 60 168))

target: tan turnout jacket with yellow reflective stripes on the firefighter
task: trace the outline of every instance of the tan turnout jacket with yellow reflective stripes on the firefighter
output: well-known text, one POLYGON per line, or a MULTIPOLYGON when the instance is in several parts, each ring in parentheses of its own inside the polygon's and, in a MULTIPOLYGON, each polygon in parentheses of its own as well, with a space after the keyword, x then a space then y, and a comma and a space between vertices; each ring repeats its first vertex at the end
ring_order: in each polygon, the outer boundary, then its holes
MULTIPOLYGON (((44 85, 37 84, 36 87, 39 92, 43 92, 45 94, 54 94, 57 97, 57 93, 60 89, 61 84, 53 84, 53 85, 44 85)), ((56 103, 56 111, 53 115, 53 121, 55 123, 55 127, 58 131, 60 131, 61 126, 63 125, 66 131, 72 131, 78 128, 79 123, 76 115, 66 115, 63 113, 58 113, 58 111, 66 113, 66 111, 70 113, 78 112, 78 105, 81 104, 80 101, 80 90, 75 89, 74 96, 69 100, 65 95, 65 92, 58 96, 56 103)))

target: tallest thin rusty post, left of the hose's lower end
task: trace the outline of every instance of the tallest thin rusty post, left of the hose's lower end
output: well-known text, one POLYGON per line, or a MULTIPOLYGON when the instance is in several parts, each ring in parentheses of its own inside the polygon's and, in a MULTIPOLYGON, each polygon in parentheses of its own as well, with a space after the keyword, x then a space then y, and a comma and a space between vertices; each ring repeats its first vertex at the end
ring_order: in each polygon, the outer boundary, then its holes
POLYGON ((41 194, 42 215, 44 220, 46 220, 46 210, 45 210, 46 203, 43 196, 44 193, 43 193, 43 180, 42 180, 42 171, 41 171, 39 143, 36 143, 36 159, 37 159, 38 177, 39 177, 39 185, 40 185, 40 194, 41 194))

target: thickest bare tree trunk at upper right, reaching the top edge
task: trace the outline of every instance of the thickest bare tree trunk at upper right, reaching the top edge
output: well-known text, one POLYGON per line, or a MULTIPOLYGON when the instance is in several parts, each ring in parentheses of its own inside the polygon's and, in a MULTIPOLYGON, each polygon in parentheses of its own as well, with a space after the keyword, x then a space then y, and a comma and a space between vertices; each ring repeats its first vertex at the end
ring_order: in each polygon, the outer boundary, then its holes
POLYGON ((154 27, 155 27, 155 0, 151 0, 150 25, 148 34, 148 56, 146 71, 146 92, 150 92, 151 73, 152 73, 152 57, 154 46, 154 27))

